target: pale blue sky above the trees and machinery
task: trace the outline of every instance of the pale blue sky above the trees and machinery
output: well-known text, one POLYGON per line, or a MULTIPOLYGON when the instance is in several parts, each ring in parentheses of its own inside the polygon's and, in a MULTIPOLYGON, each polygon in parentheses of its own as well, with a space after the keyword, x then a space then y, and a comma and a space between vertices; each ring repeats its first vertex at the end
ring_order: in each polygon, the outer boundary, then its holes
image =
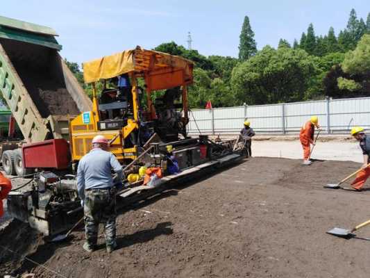
POLYGON ((301 38, 312 22, 317 34, 345 28, 351 8, 366 20, 369 0, 8 0, 0 15, 54 28, 62 56, 82 63, 136 45, 151 49, 174 40, 203 55, 238 54, 239 34, 248 15, 258 49, 280 38, 301 38), (88 3, 88 4, 87 4, 88 3))

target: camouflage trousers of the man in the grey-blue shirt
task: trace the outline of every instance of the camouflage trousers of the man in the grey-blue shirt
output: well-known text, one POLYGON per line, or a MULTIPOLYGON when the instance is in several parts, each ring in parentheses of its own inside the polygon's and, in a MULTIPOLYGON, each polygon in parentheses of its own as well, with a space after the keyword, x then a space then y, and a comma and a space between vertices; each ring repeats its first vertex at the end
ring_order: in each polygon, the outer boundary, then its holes
POLYGON ((116 197, 112 190, 86 190, 83 206, 85 214, 85 236, 90 247, 98 240, 99 224, 104 224, 106 245, 116 241, 116 197))

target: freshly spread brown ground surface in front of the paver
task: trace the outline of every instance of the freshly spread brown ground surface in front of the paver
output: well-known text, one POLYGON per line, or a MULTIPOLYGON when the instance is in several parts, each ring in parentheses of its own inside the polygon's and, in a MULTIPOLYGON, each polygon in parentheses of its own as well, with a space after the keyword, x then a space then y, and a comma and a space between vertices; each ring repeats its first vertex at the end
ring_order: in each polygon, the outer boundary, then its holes
MULTIPOLYGON (((370 241, 326 234, 368 220, 370 191, 325 189, 360 164, 252 158, 117 218, 118 249, 83 251, 83 229, 44 243, 11 222, 0 272, 35 277, 368 277, 370 241), (22 259, 28 258, 48 270, 22 259), (53 271, 53 272, 52 272, 53 271)), ((370 228, 357 232, 370 237, 370 228)), ((103 237, 99 238, 103 243, 103 237)))

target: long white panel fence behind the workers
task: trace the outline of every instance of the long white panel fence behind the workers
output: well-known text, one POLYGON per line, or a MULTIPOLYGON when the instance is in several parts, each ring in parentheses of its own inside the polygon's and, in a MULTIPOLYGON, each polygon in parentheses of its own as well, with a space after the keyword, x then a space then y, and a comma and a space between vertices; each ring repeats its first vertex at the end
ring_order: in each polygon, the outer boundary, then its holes
POLYGON ((370 129, 370 97, 194 110, 188 128, 190 134, 237 133, 248 119, 258 133, 298 133, 312 115, 327 133, 348 133, 353 126, 370 129))

